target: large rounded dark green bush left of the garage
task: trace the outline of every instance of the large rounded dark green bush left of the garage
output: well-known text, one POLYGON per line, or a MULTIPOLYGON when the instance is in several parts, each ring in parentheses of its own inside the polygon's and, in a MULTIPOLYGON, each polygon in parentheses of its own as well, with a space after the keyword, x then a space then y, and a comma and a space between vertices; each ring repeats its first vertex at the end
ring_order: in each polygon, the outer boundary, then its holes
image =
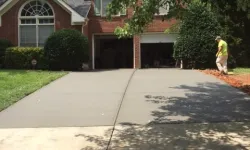
POLYGON ((44 50, 52 70, 77 70, 88 61, 88 40, 77 30, 63 29, 53 33, 44 50))

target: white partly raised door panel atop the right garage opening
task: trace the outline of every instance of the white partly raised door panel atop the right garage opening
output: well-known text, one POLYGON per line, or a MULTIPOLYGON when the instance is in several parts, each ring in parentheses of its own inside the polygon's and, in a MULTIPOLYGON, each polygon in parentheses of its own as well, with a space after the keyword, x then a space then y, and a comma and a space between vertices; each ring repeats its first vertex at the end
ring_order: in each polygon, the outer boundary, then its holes
POLYGON ((177 34, 142 34, 141 43, 174 43, 176 38, 177 34))

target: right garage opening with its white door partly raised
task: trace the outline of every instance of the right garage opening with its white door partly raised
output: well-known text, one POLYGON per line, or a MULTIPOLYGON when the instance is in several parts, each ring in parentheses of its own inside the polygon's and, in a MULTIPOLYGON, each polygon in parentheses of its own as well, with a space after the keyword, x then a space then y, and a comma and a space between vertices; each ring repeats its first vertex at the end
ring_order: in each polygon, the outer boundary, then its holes
POLYGON ((174 67, 173 45, 177 34, 141 35, 141 68, 174 67))

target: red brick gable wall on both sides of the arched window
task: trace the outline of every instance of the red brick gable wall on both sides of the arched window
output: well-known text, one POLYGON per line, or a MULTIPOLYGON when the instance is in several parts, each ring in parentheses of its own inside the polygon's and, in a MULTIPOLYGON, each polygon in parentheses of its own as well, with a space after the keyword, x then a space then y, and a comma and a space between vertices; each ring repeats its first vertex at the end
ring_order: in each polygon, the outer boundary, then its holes
MULTIPOLYGON (((18 13, 26 0, 19 0, 9 11, 2 16, 0 38, 9 39, 14 45, 18 45, 18 13)), ((55 29, 73 28, 81 31, 82 26, 71 26, 71 16, 53 0, 48 0, 55 12, 55 29)))

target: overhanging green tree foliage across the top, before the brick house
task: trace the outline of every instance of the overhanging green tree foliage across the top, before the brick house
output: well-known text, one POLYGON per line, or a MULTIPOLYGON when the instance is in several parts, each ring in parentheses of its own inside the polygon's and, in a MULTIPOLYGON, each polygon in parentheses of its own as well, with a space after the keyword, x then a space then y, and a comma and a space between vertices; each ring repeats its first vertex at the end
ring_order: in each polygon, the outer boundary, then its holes
POLYGON ((159 13, 160 7, 169 6, 169 13, 163 16, 163 21, 173 17, 182 19, 187 6, 199 1, 211 4, 218 14, 222 14, 229 20, 239 21, 250 18, 250 1, 248 0, 112 0, 107 8, 107 17, 111 20, 112 15, 117 14, 124 7, 133 9, 134 13, 131 18, 126 20, 125 26, 118 27, 116 30, 118 35, 131 36, 142 33, 153 21, 154 15, 159 13), (242 15, 244 17, 241 17, 242 15))

